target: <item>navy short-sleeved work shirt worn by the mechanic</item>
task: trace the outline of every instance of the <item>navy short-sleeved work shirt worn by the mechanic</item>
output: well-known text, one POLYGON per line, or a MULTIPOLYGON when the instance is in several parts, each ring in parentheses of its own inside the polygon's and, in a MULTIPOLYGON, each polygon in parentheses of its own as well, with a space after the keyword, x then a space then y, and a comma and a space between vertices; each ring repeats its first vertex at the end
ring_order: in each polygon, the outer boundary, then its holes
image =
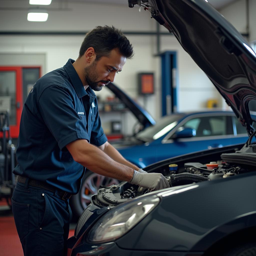
POLYGON ((85 168, 66 145, 85 139, 100 146, 107 141, 95 93, 83 84, 69 59, 63 68, 41 77, 30 91, 20 121, 17 161, 13 173, 78 193, 85 168))

